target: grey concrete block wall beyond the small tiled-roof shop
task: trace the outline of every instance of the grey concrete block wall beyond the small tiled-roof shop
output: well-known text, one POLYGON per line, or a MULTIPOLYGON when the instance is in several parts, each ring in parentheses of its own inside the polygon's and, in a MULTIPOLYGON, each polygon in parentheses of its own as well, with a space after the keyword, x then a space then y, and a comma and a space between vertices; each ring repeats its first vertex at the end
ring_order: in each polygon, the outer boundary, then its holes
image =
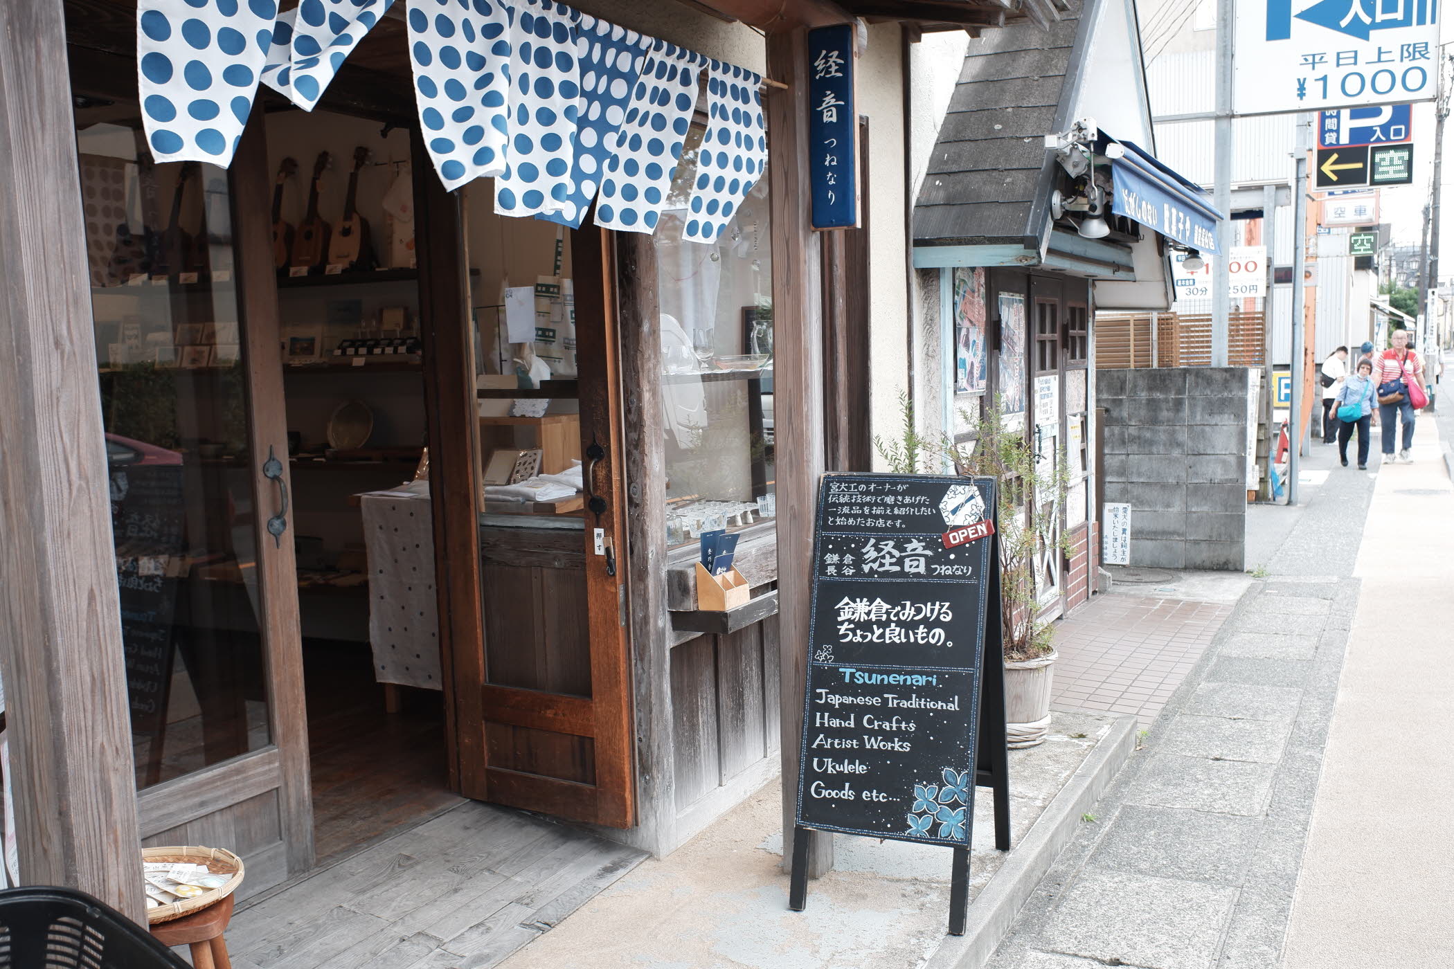
POLYGON ((1248 370, 1096 372, 1104 501, 1131 506, 1131 565, 1246 565, 1248 370))

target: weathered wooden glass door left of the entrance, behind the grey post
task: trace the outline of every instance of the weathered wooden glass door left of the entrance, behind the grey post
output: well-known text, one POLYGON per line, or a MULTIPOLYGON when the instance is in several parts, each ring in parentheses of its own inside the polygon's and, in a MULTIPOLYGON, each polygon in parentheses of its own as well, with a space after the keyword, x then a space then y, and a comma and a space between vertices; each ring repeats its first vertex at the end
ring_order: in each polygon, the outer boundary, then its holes
POLYGON ((93 60, 71 54, 141 834, 237 851, 256 892, 313 860, 262 113, 230 170, 156 164, 93 60))

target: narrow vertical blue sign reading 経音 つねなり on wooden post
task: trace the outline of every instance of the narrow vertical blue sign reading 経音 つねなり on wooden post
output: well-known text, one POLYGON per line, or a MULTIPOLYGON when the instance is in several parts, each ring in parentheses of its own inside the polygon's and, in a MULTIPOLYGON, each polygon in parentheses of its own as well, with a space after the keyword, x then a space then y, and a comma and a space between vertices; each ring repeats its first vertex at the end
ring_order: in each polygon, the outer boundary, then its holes
POLYGON ((858 228, 853 25, 808 31, 808 180, 813 228, 858 228))

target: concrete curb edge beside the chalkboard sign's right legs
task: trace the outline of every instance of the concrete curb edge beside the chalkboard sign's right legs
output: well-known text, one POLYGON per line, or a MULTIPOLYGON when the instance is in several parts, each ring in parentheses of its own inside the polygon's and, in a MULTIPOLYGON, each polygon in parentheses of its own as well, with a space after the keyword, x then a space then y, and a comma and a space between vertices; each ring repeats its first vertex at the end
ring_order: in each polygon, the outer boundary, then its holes
POLYGON ((1136 718, 1118 716, 1025 838, 1009 851, 1005 864, 970 902, 965 934, 947 936, 925 969, 980 969, 990 960, 1009 936, 1015 917, 1029 901, 1040 879, 1080 830, 1080 815, 1095 808, 1133 750, 1136 718))

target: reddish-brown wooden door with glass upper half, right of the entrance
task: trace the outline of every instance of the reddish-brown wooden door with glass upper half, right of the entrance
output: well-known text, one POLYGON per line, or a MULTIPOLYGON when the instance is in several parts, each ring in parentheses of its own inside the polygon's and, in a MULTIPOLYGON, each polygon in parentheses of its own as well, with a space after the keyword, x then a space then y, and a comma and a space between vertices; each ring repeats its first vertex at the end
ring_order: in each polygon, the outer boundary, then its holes
MULTIPOLYGON (((422 190, 430 193, 430 205, 452 205, 433 173, 426 177, 422 190)), ((436 362, 436 386, 445 388, 449 372, 459 369, 455 359, 473 360, 462 368, 470 382, 459 404, 477 431, 471 484, 462 494, 445 491, 439 478, 432 487, 443 514, 459 522, 474 517, 480 495, 480 591, 471 601, 449 603, 459 790, 625 828, 635 824, 635 790, 625 565, 618 554, 625 530, 609 234, 590 227, 589 216, 574 232, 499 216, 478 198, 490 195, 471 196, 467 208, 470 238, 481 240, 471 251, 481 261, 499 260, 481 264, 481 277, 535 282, 537 340, 510 343, 506 314, 494 312, 503 308, 489 305, 497 302, 489 296, 499 283, 475 283, 478 340, 462 338, 454 357, 436 362), (509 247, 487 247, 484 240, 505 234, 509 247), (471 353, 471 346, 481 352, 471 353), (522 369, 534 362, 545 379, 522 392, 513 376, 516 360, 522 369), (564 472, 566 494, 516 501, 507 478, 522 452, 537 450, 544 474, 564 472), (478 625, 471 628, 459 610, 475 604, 478 625)), ((430 251, 422 266, 433 277, 442 256, 433 247, 449 243, 426 232, 425 244, 430 251)), ((448 321, 436 323, 433 331, 445 337, 448 321)), ((448 420, 441 414, 438 436, 432 431, 441 449, 459 440, 448 420)), ((451 455, 432 453, 430 463, 441 458, 451 455)), ((470 596, 471 584, 457 581, 464 565, 458 556, 436 556, 436 567, 455 577, 451 596, 455 590, 470 596)))

